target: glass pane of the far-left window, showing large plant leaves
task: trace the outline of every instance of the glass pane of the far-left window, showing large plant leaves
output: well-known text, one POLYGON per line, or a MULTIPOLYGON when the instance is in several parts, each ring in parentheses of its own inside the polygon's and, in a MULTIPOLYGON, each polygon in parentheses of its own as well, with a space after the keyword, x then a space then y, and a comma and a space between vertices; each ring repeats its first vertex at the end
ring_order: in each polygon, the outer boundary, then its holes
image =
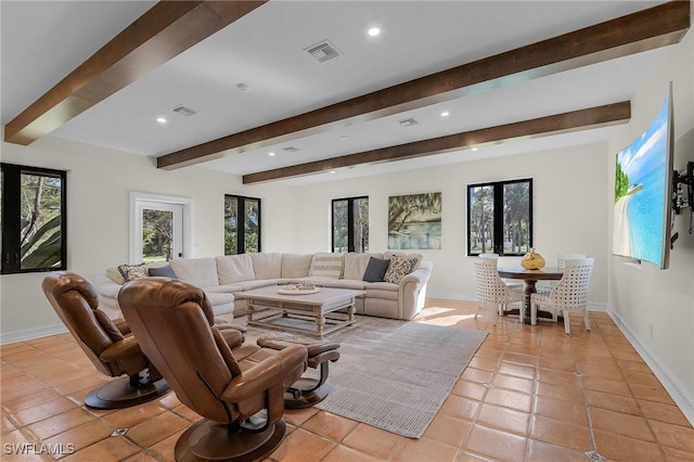
POLYGON ((59 176, 21 175, 21 269, 62 266, 62 191, 59 176))

